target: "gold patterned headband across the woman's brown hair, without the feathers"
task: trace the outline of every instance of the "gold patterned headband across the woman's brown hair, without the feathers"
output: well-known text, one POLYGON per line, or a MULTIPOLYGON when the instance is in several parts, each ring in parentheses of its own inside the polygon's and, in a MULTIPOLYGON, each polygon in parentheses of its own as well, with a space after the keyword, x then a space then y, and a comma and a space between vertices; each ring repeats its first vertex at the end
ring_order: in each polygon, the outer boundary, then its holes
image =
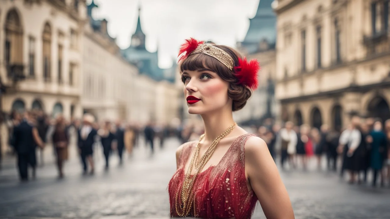
POLYGON ((211 44, 200 44, 190 55, 203 53, 222 62, 230 71, 233 71, 234 61, 227 52, 211 44))

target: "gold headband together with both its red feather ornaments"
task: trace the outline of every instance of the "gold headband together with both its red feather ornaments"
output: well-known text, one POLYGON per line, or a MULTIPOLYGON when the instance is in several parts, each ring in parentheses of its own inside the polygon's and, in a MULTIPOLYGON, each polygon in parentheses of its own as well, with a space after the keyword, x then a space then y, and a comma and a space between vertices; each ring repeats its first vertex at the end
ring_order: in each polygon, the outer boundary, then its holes
POLYGON ((196 53, 203 53, 216 58, 230 69, 230 71, 233 71, 238 79, 238 84, 247 86, 252 90, 255 90, 259 85, 257 81, 257 72, 260 70, 260 64, 256 59, 252 59, 248 62, 246 57, 243 59, 238 58, 238 66, 234 66, 233 58, 222 49, 213 46, 212 44, 205 44, 203 41, 197 41, 196 39, 190 38, 186 39, 186 42, 181 45, 178 55, 179 62, 196 53))

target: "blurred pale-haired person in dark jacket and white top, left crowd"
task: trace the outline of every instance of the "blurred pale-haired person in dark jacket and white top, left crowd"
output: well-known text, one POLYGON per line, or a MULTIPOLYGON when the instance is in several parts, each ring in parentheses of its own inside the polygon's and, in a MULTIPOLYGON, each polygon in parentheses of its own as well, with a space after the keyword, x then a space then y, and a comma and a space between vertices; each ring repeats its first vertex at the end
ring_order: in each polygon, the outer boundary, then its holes
POLYGON ((87 174, 87 160, 91 166, 90 174, 94 174, 93 145, 95 143, 97 131, 92 127, 95 118, 89 113, 83 116, 83 124, 78 130, 78 148, 83 162, 83 174, 87 174))

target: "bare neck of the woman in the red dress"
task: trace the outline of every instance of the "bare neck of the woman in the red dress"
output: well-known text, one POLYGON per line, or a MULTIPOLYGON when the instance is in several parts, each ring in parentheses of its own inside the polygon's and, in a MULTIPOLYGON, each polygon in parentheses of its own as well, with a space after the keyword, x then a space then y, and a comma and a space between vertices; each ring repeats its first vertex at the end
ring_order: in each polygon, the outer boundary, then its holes
POLYGON ((229 109, 202 114, 204 122, 204 142, 213 142, 223 131, 234 124, 232 111, 229 109))

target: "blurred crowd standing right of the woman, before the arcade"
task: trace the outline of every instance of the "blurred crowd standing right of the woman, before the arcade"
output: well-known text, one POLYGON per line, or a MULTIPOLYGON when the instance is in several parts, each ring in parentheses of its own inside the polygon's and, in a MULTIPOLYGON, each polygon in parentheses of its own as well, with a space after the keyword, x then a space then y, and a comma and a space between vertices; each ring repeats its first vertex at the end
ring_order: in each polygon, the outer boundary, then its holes
POLYGON ((386 181, 390 186, 390 120, 354 116, 343 130, 330 130, 326 124, 319 129, 297 126, 290 121, 281 127, 266 120, 256 132, 266 141, 274 160, 280 155, 283 170, 286 163, 290 170, 307 170, 311 162, 323 170, 326 163, 327 170, 339 170, 341 177, 347 171, 350 184, 367 182, 371 171, 372 186, 377 185, 378 177, 382 187, 386 181), (322 162, 324 158, 326 162, 322 162))

